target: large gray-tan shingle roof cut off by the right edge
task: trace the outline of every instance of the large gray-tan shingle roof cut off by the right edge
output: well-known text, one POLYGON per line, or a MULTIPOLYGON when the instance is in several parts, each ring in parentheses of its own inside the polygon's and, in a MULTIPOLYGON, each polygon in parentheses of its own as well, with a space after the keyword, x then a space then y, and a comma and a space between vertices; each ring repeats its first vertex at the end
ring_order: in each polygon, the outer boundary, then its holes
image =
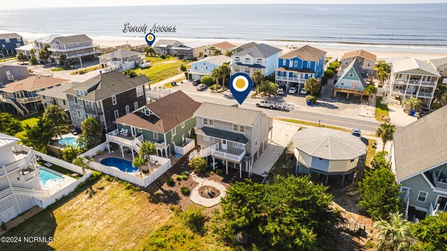
POLYGON ((447 162, 447 106, 420 118, 393 135, 397 180, 447 162))

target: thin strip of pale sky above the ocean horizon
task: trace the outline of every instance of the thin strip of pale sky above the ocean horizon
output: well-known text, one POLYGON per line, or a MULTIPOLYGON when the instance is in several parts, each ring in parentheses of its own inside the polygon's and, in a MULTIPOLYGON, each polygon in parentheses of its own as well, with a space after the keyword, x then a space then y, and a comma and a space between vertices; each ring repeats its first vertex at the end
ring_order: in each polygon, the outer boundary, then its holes
MULTIPOLYGON (((81 6, 142 6, 142 5, 166 5, 166 4, 210 4, 210 1, 203 0, 3 0, 0 9, 9 8, 46 8, 46 7, 81 7, 81 6)), ((279 0, 275 3, 331 3, 334 0, 279 0)), ((214 0, 212 4, 219 3, 273 3, 272 0, 214 0)), ((338 0, 337 3, 447 3, 447 0, 338 0)))

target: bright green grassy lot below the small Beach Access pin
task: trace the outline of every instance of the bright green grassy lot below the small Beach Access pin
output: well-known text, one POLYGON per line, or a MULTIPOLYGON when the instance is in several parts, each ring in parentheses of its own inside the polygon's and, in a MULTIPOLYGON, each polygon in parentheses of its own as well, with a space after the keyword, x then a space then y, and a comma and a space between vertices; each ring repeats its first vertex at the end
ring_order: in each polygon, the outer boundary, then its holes
POLYGON ((147 76, 147 78, 152 80, 152 83, 157 83, 182 73, 182 71, 180 71, 180 66, 182 64, 186 66, 186 68, 190 67, 188 62, 183 62, 175 57, 168 57, 166 59, 161 59, 160 57, 146 57, 146 59, 152 66, 147 69, 135 69, 135 73, 147 76))

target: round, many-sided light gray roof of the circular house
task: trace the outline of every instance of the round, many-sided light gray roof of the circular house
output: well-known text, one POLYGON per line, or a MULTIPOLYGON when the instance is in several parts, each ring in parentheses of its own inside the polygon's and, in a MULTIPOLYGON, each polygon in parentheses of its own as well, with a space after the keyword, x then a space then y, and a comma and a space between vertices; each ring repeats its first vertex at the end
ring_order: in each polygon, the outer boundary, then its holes
POLYGON ((366 145, 345 131, 312 127, 292 136, 295 148, 307 155, 329 159, 355 159, 366 153, 366 145))

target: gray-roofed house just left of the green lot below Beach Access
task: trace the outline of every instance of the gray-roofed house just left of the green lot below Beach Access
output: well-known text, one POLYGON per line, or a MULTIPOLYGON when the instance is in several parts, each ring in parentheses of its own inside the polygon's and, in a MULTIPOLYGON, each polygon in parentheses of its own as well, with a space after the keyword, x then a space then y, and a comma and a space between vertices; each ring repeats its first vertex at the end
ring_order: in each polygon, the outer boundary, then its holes
POLYGON ((141 52, 131 50, 115 50, 98 56, 101 68, 107 71, 125 71, 135 68, 145 58, 141 52))

